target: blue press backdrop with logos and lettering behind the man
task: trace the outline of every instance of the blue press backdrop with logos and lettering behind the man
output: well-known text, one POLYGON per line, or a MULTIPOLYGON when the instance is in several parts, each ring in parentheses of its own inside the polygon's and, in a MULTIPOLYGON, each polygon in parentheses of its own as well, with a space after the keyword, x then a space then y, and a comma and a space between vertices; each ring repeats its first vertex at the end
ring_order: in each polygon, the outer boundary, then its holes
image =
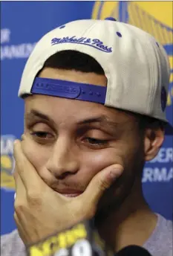
MULTIPOLYGON (((152 2, 152 6, 153 4, 155 10, 158 2, 152 2)), ((170 9, 169 6, 165 8, 170 9)), ((118 1, 1 2, 1 234, 16 228, 13 220, 14 181, 11 175, 14 165, 13 141, 22 135, 24 114, 24 105, 17 93, 23 68, 35 43, 51 29, 71 20, 114 16, 153 33, 166 48, 173 73, 172 25, 168 25, 167 20, 164 22, 162 16, 157 18, 151 10, 152 8, 141 7, 135 2, 118 1)), ((171 122, 172 77, 171 75, 167 104, 171 122)), ((172 135, 166 136, 157 158, 146 164, 143 171, 143 191, 148 204, 170 220, 173 217, 172 147, 172 135)))

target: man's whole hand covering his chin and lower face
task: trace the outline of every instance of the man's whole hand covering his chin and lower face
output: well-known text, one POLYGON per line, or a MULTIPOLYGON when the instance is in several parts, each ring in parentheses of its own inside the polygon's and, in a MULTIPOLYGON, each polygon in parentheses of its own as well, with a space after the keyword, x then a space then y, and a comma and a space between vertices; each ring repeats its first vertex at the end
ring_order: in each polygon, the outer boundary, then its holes
POLYGON ((123 172, 120 164, 106 167, 94 176, 84 193, 68 198, 53 191, 40 178, 23 153, 21 141, 14 143, 14 157, 14 219, 25 245, 94 217, 102 193, 123 172))

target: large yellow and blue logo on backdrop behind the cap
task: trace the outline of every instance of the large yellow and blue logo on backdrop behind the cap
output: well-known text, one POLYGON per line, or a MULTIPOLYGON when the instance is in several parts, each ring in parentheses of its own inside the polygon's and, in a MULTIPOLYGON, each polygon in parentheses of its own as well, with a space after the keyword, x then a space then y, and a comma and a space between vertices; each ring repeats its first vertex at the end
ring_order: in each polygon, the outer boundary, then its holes
POLYGON ((172 1, 96 1, 92 19, 114 17, 151 33, 166 49, 171 66, 167 106, 173 103, 172 1))

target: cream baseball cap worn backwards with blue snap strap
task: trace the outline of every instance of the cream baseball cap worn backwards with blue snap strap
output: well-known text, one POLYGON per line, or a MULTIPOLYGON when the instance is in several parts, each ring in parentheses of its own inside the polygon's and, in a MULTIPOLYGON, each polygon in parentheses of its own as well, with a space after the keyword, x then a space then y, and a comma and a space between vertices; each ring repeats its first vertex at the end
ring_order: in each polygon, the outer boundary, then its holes
POLYGON ((36 44, 22 74, 19 97, 41 94, 87 100, 168 124, 169 69, 163 46, 140 28, 112 18, 76 20, 53 29, 36 44), (50 56, 65 50, 97 60, 107 86, 36 77, 50 56))

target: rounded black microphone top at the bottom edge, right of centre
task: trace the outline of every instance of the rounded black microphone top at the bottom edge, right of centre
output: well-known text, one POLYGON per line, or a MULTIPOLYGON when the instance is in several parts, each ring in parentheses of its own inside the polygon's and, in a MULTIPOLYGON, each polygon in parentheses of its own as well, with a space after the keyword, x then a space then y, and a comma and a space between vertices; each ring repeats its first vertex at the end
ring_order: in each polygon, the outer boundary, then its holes
POLYGON ((117 252, 116 256, 151 256, 151 254, 140 246, 126 246, 117 252))

